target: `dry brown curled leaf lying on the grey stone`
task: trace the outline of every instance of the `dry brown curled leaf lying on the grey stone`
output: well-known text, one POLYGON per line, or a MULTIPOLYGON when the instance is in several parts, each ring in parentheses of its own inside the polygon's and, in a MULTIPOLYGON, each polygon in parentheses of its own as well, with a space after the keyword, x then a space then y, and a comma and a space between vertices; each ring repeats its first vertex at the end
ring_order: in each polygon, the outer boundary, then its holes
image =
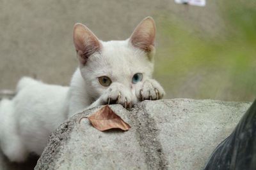
POLYGON ((127 131, 131 126, 122 120, 108 105, 88 117, 93 127, 99 131, 118 128, 127 131))

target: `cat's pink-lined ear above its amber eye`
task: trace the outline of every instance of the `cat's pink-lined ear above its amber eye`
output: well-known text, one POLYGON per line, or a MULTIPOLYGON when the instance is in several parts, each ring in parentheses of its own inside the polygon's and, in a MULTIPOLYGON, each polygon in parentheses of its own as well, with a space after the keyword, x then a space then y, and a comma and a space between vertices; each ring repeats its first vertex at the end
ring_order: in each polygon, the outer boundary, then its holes
POLYGON ((99 52, 102 46, 97 36, 88 27, 80 23, 74 25, 73 38, 79 62, 82 65, 86 64, 90 55, 99 52))

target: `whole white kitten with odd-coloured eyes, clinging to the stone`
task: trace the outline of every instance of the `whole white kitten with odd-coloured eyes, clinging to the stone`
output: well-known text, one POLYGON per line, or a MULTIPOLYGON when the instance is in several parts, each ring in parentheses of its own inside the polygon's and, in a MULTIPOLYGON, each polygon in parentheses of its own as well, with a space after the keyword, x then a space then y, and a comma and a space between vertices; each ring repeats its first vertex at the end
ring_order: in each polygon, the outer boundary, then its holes
POLYGON ((83 24, 74 26, 79 67, 70 87, 22 78, 17 95, 0 103, 0 145, 15 162, 42 153, 51 134, 75 113, 102 104, 125 108, 145 99, 161 99, 164 90, 152 79, 156 26, 145 18, 125 41, 100 41, 83 24))

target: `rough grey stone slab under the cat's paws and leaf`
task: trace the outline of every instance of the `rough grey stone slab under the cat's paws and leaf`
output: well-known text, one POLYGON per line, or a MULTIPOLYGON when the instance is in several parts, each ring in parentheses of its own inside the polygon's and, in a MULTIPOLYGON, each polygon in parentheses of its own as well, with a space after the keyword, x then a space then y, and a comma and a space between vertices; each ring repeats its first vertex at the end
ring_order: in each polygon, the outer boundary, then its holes
POLYGON ((100 132, 83 111, 61 124, 35 169, 203 169, 251 103, 170 99, 111 108, 131 125, 100 132))

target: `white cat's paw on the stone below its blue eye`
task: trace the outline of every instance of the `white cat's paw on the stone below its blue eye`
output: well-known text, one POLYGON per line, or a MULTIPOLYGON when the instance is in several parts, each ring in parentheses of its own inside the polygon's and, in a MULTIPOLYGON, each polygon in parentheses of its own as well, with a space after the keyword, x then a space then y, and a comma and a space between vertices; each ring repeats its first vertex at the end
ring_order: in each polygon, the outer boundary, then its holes
POLYGON ((141 82, 136 88, 136 97, 139 101, 163 99, 164 94, 163 87, 153 79, 141 82))

